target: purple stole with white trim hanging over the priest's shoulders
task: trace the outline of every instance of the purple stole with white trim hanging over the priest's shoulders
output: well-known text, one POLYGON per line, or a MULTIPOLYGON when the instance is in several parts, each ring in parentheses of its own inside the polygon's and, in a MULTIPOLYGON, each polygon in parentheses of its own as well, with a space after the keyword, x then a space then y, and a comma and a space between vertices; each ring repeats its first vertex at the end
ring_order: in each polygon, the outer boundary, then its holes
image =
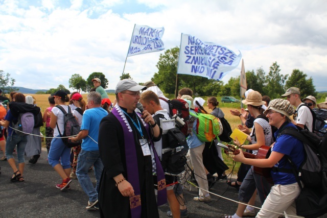
MULTIPOLYGON (((129 198, 129 204, 131 209, 132 218, 141 217, 141 190, 139 187, 138 179, 138 167, 137 167, 137 157, 136 157, 136 148, 132 128, 130 127, 128 120, 125 114, 122 112, 122 109, 116 104, 112 109, 111 113, 119 120, 122 125, 124 133, 124 142, 125 142, 125 156, 126 156, 126 168, 128 182, 131 183, 134 189, 134 196, 129 198), (128 161, 127 161, 128 160, 128 161)), ((137 115, 137 114, 136 114, 137 115)), ((138 115, 137 115, 138 116, 138 115)), ((143 126, 150 136, 150 128, 144 120, 141 118, 143 126)), ((148 137, 151 138, 151 137, 148 137)), ((157 181, 158 181, 158 199, 157 204, 162 205, 167 203, 167 191, 166 191, 166 179, 164 170, 161 167, 159 157, 155 152, 153 142, 150 140, 151 148, 153 149, 155 163, 157 168, 157 181)), ((146 146, 146 145, 144 145, 146 146)))

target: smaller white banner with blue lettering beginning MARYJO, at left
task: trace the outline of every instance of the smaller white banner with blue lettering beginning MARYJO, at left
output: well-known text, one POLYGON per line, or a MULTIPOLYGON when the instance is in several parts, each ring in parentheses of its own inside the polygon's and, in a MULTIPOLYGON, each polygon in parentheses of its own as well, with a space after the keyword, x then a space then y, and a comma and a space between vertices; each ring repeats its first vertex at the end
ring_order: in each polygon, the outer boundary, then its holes
POLYGON ((127 57, 149 52, 160 52, 165 49, 161 38, 165 28, 151 28, 135 25, 127 57))

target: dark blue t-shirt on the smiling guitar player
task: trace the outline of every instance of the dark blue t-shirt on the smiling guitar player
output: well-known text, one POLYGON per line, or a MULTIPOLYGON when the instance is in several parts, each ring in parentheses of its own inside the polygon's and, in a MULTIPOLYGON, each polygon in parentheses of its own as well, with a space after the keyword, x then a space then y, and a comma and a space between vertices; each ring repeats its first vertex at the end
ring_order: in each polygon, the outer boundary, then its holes
MULTIPOLYGON (((296 129, 295 125, 292 123, 286 124, 282 129, 287 127, 293 127, 296 129)), ((279 152, 282 154, 285 154, 281 160, 279 160, 274 166, 277 168, 288 168, 292 169, 292 166, 287 160, 287 156, 290 157, 292 162, 297 166, 297 168, 300 166, 300 164, 303 162, 305 158, 305 151, 303 148, 303 143, 290 135, 281 135, 279 137, 278 133, 281 131, 281 129, 278 129, 275 132, 276 137, 276 143, 271 148, 271 151, 273 152, 279 152)), ((294 174, 292 173, 282 173, 282 172, 272 172, 271 171, 271 177, 275 184, 280 185, 289 185, 296 183, 296 179, 294 174)))

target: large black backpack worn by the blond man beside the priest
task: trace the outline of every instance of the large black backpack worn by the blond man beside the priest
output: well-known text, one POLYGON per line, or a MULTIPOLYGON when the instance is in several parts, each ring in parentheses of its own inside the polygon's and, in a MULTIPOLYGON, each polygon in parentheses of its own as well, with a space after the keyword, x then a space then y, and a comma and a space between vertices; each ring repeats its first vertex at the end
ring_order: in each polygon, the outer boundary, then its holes
MULTIPOLYGON (((153 119, 163 127, 164 122, 169 122, 163 114, 156 114, 153 119), (161 118, 161 119, 160 119, 161 118), (166 120, 164 120, 166 119, 166 120)), ((170 119, 174 122, 174 119, 170 119)), ((168 175, 178 175, 185 171, 186 153, 189 147, 185 135, 178 128, 162 130, 162 158, 161 166, 168 175)))

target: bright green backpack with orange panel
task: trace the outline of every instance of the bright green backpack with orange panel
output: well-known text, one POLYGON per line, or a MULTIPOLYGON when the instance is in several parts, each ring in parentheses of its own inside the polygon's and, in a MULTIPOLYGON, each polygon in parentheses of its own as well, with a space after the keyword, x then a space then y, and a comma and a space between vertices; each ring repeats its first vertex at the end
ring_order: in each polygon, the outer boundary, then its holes
POLYGON ((190 112, 190 115, 197 118, 196 135, 200 141, 211 142, 223 132, 223 127, 218 117, 211 114, 193 112, 190 112))

